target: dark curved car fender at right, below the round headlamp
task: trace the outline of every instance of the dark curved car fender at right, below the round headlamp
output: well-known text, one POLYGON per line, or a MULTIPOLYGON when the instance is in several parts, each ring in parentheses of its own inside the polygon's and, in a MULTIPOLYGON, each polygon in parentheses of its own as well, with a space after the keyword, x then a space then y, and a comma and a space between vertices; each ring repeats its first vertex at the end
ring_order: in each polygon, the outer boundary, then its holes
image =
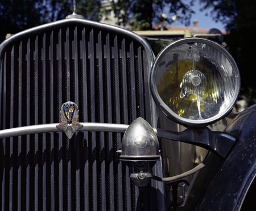
POLYGON ((196 210, 241 210, 246 193, 253 184, 256 175, 256 105, 237 115, 225 132, 237 138, 236 144, 196 210))

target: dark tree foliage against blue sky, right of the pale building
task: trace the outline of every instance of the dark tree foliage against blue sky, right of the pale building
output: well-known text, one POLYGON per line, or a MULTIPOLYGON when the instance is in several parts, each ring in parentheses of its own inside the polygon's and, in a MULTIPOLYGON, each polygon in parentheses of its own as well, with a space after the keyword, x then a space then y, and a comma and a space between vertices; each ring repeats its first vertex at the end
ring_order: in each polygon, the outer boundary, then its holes
POLYGON ((160 14, 178 15, 179 22, 190 24, 191 9, 195 0, 119 0, 112 1, 115 16, 122 24, 129 24, 133 30, 149 30, 152 24, 158 24, 160 14))

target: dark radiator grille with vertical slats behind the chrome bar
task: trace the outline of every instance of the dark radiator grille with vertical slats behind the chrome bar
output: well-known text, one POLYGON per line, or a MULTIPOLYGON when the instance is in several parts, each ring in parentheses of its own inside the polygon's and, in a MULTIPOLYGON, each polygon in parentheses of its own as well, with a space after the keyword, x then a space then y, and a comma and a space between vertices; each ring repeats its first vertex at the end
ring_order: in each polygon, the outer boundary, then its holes
MULTIPOLYGON (((7 45, 0 60, 0 127, 58 123, 76 102, 80 122, 151 123, 143 45, 106 29, 67 24, 7 45), (147 102, 147 104, 146 104, 147 102)), ((115 152, 122 134, 44 133, 0 141, 2 210, 156 210, 115 152)), ((154 199, 154 200, 152 200, 154 199)))

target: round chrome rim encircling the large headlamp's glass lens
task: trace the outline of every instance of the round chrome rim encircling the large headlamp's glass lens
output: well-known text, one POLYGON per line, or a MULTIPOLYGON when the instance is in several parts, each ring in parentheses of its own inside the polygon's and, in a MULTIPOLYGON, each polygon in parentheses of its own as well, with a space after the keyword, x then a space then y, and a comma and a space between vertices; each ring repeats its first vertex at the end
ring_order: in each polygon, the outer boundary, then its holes
POLYGON ((236 100, 238 98, 238 94, 240 92, 241 88, 241 80, 240 80, 240 72, 238 70, 237 64, 234 61, 234 58, 231 56, 231 54, 221 45, 215 43, 214 41, 207 40, 204 38, 199 38, 199 37, 188 37, 184 38, 181 40, 177 40, 174 43, 171 43, 167 45, 159 54, 156 56, 156 59, 152 65, 151 69, 151 74, 150 74, 150 89, 151 93, 153 96, 153 99, 155 100, 155 103, 159 107, 159 109, 166 115, 169 119, 175 121, 178 124, 187 126, 187 127, 201 127, 201 126, 207 126, 213 123, 216 123, 216 121, 224 118, 226 115, 228 115, 233 107, 234 104, 236 104, 236 100), (202 43, 202 44, 207 44, 210 45, 211 47, 217 49, 220 51, 226 59, 229 61, 229 64, 232 66, 232 71, 236 75, 236 80, 235 83, 236 85, 234 86, 234 94, 232 98, 230 99, 230 102, 228 105, 225 107, 225 109, 221 112, 218 113, 217 115, 214 115, 212 117, 209 117, 208 119, 187 119, 184 117, 181 117, 177 115, 170 107, 167 106, 166 103, 162 100, 162 98, 159 95, 158 89, 156 87, 156 72, 158 71, 158 65, 159 62, 162 60, 164 56, 166 56, 167 52, 170 52, 171 49, 174 49, 175 47, 182 45, 182 44, 193 44, 193 43, 202 43))

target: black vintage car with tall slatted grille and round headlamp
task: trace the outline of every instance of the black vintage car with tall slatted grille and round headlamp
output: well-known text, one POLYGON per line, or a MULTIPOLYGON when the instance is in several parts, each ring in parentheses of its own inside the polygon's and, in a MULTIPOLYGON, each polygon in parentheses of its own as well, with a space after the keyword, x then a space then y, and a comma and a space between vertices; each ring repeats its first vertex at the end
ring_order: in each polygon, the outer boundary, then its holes
POLYGON ((256 107, 233 113, 240 86, 209 39, 154 55, 76 13, 12 35, 0 45, 1 210, 249 210, 256 107))

